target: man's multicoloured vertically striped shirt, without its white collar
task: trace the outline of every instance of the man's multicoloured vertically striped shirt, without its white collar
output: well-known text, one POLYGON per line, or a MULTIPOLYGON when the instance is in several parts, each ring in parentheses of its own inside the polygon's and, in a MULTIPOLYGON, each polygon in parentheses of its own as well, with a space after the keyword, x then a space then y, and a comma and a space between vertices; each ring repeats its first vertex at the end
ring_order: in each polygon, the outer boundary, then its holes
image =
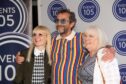
POLYGON ((83 57, 82 34, 76 33, 72 40, 52 39, 53 84, 79 84, 77 68, 83 57))

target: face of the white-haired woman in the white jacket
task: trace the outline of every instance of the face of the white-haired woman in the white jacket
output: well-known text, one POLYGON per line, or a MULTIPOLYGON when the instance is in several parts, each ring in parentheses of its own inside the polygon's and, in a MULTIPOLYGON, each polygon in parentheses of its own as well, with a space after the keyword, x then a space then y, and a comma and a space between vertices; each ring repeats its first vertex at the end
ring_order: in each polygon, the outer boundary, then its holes
POLYGON ((89 29, 84 33, 84 46, 89 52, 96 52, 98 48, 98 34, 96 30, 89 29))

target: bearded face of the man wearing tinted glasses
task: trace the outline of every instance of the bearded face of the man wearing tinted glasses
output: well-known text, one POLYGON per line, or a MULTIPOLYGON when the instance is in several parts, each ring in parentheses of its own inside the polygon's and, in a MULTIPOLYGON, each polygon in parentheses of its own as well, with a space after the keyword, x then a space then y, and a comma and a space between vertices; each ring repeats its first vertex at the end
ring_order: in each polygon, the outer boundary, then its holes
POLYGON ((60 35, 66 35, 71 32, 71 23, 68 13, 60 13, 57 15, 56 29, 60 35))

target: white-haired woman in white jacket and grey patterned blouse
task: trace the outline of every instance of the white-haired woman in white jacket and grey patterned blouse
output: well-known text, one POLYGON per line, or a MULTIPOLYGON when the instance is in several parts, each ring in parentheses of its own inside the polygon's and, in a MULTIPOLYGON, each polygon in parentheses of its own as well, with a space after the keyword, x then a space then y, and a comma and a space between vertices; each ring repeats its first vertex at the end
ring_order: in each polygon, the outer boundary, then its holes
POLYGON ((105 33, 98 26, 89 26, 84 34, 84 47, 87 55, 84 63, 78 68, 78 78, 83 84, 120 84, 120 73, 117 59, 102 61, 104 47, 108 47, 105 33))

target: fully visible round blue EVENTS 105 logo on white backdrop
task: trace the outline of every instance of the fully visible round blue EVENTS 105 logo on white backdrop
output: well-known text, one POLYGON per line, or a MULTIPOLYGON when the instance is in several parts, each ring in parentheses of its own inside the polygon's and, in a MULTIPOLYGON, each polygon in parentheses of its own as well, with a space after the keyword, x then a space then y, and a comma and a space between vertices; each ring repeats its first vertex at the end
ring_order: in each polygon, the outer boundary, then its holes
POLYGON ((95 21, 100 13, 100 7, 95 0, 83 0, 78 7, 79 17, 85 22, 95 21))

